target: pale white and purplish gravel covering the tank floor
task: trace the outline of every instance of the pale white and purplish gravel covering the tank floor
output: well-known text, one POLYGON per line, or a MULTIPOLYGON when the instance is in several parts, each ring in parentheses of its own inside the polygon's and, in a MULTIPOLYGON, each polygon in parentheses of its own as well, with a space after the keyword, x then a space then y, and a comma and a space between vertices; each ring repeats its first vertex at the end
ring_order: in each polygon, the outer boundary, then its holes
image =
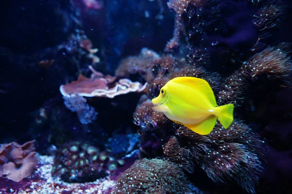
POLYGON ((0 179, 0 194, 110 194, 116 181, 110 176, 94 182, 67 183, 59 177, 52 177, 54 156, 39 156, 37 170, 19 183, 0 179), (3 186, 4 185, 4 186, 3 186))

